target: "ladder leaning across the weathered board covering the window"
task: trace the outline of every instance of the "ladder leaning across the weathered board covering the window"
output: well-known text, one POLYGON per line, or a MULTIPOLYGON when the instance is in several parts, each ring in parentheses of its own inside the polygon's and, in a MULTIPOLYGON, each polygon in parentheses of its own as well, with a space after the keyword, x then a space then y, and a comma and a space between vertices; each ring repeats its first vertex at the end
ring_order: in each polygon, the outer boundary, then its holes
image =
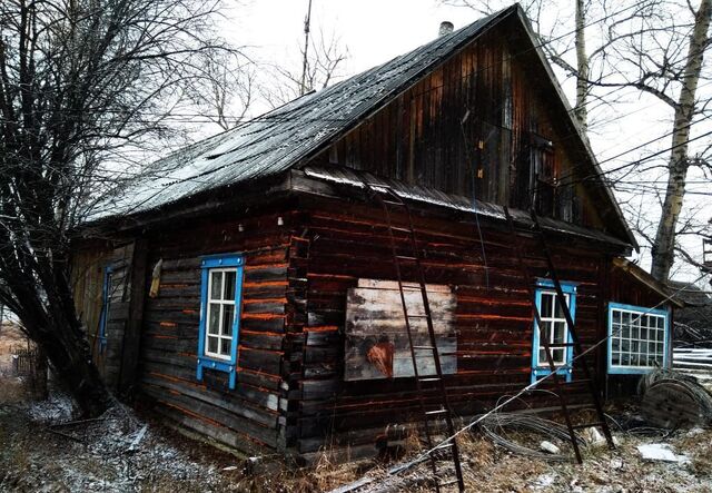
POLYGON ((428 303, 428 295, 425 285, 425 273, 423 270, 423 264, 421 262, 421 255, 417 248, 417 241, 415 237, 415 229, 413 226, 413 216, 411 213, 411 208, 403 200, 398 194, 393 190, 390 187, 374 184, 373 186, 364 181, 366 186, 366 190, 368 195, 376 199, 376 201, 380 205, 384 211, 384 218, 386 220, 386 226, 388 227, 388 238, 390 243, 390 250, 393 254, 393 265, 396 274, 396 279, 398 282, 398 290, 400 292, 400 303, 403 305, 403 317, 405 322, 405 328, 408 336, 408 345, 411 346, 411 358, 413 361, 413 372, 415 375, 415 385, 418 395, 418 403, 421 406, 422 417, 423 417, 423 426, 425 428, 425 436, 427 442, 427 447, 431 453, 428 454, 431 469, 433 471, 433 475, 435 476, 435 491, 441 492, 443 486, 457 485, 461 492, 465 491, 465 483, 463 480, 462 464, 459 462, 459 451, 457 447, 457 442, 453 437, 455 435, 455 426, 453 424, 453 413, 449 405, 449 401, 447 398, 447 391, 445 388, 445 381, 443 379, 443 368, 441 365, 441 357, 437 352, 437 341, 435 336, 435 328, 433 325, 433 315, 431 313, 431 305, 428 303), (405 226, 395 226, 393 224, 393 213, 395 210, 402 211, 405 214, 407 218, 407 224, 405 226), (400 252, 398 250, 398 246, 396 244, 395 231, 405 233, 408 237, 408 247, 409 252, 407 254, 403 253, 403 248, 400 252), (416 282, 415 283, 404 283, 403 280, 403 266, 409 265, 413 266, 416 273, 416 282), (421 293, 421 297, 423 300, 423 314, 411 314, 408 313, 408 307, 406 303, 406 292, 417 290, 421 293), (412 324, 414 321, 425 321, 427 325, 428 333, 428 342, 427 345, 417 345, 414 343, 412 324), (433 362, 435 365, 435 375, 419 375, 417 367, 417 357, 416 354, 419 351, 429 352, 433 355, 433 362), (425 388, 428 387, 428 388, 425 388), (439 393, 441 402, 433 408, 433 404, 427 404, 425 401, 425 396, 423 395, 424 391, 436 391, 439 393), (448 437, 453 437, 447 440, 439 445, 435 445, 434 441, 434 431, 436 430, 436 425, 441 422, 441 420, 445 421, 446 432, 448 437), (438 457, 449 457, 452 459, 453 466, 455 470, 455 479, 447 480, 443 472, 438 471, 437 459, 438 457))

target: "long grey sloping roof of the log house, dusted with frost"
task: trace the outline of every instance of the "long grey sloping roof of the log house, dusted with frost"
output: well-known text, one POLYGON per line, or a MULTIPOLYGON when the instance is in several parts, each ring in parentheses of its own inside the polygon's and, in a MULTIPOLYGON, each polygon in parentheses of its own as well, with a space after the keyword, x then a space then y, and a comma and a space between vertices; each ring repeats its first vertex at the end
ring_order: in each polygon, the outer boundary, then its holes
POLYGON ((151 165, 147 177, 130 184, 123 194, 100 205, 90 220, 142 213, 202 191, 286 171, 515 11, 513 7, 483 18, 379 67, 174 152, 151 165))

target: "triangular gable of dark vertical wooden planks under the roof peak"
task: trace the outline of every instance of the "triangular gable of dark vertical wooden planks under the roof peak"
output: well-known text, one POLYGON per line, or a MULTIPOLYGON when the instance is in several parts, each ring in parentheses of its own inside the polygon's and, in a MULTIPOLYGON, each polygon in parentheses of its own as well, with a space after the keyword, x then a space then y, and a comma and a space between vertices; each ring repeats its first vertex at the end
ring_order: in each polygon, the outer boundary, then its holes
POLYGON ((605 229, 580 185, 571 129, 516 53, 515 40, 484 34, 312 162, 525 210, 536 206, 541 215, 605 229), (545 165, 543 142, 552 146, 545 165), (543 199, 548 188, 553 201, 543 199))

